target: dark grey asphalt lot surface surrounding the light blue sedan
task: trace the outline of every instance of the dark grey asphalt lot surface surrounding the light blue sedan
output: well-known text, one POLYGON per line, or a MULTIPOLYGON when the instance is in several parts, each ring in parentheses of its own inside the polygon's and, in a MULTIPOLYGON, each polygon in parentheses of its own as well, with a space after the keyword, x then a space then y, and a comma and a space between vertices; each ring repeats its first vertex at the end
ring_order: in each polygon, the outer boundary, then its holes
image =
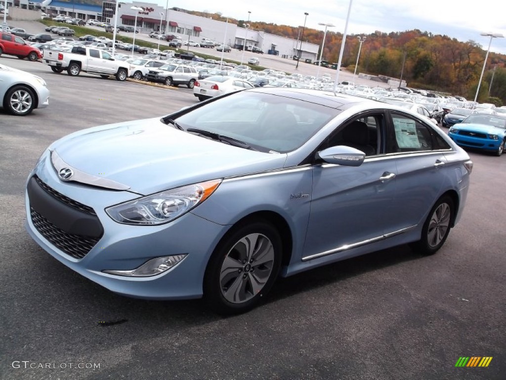
POLYGON ((466 210, 436 255, 400 246, 280 279, 266 305, 224 319, 199 300, 113 294, 53 259, 23 227, 24 183, 47 145, 83 128, 166 115, 196 103, 192 91, 69 77, 15 57, 0 63, 43 77, 51 90, 50 106, 30 116, 0 110, 0 378, 504 378, 505 156, 470 153, 466 210), (455 367, 462 356, 493 359, 455 367))

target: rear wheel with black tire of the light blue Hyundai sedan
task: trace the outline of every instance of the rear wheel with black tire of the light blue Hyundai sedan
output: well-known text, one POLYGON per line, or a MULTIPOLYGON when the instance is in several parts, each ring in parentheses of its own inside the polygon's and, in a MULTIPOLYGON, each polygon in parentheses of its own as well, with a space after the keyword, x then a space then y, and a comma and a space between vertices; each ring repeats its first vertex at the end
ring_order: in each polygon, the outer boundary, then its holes
POLYGON ((436 253, 450 233, 454 210, 453 200, 449 196, 439 198, 427 216, 420 240, 411 243, 411 248, 423 255, 436 253))

